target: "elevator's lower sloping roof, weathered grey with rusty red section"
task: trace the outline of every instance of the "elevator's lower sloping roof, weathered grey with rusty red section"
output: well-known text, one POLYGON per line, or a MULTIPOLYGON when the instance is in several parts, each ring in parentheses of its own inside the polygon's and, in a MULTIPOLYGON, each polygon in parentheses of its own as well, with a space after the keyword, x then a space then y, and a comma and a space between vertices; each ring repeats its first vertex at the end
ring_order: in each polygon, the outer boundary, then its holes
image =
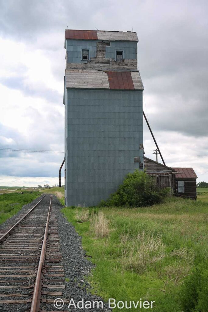
POLYGON ((144 90, 138 71, 71 69, 65 71, 65 81, 66 88, 144 90), (134 74, 133 79, 132 73, 134 74))

